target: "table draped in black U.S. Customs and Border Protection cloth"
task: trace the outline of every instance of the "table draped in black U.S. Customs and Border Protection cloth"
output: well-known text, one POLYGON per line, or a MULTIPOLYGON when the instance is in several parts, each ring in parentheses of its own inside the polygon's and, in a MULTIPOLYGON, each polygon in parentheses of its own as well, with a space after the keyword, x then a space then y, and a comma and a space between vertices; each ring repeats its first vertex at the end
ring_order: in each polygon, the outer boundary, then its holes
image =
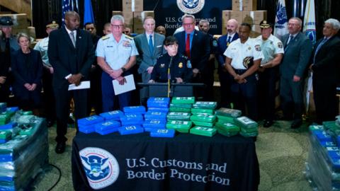
POLYGON ((254 141, 241 136, 174 138, 79 132, 72 145, 74 190, 257 190, 254 141))

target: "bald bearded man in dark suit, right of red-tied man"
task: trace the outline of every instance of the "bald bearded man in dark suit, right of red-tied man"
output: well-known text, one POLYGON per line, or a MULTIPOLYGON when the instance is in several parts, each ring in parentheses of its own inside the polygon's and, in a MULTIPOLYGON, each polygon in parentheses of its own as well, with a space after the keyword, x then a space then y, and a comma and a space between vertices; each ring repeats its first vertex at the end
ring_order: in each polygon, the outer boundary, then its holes
POLYGON ((220 79, 220 93, 221 93, 221 107, 230 108, 230 84, 231 77, 229 72, 225 69, 225 55, 223 54, 229 44, 239 38, 239 34, 236 33, 239 23, 232 18, 227 22, 227 34, 218 38, 217 49, 217 62, 218 62, 218 76, 220 79))

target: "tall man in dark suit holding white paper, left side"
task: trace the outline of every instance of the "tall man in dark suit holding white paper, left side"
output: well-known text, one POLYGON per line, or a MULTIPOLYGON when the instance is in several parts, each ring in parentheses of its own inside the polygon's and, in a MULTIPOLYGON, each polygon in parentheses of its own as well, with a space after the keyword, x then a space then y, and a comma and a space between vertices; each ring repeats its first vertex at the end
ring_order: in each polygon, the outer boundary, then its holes
MULTIPOLYGON (((68 91, 70 84, 79 86, 89 80, 91 64, 94 63, 94 46, 91 35, 79 29, 79 14, 65 13, 65 26, 50 33, 48 57, 54 69, 53 89, 57 114, 57 154, 62 154, 67 141, 69 103, 74 99, 76 120, 86 117, 87 90, 68 91)), ((77 122, 76 122, 77 126, 77 122)))

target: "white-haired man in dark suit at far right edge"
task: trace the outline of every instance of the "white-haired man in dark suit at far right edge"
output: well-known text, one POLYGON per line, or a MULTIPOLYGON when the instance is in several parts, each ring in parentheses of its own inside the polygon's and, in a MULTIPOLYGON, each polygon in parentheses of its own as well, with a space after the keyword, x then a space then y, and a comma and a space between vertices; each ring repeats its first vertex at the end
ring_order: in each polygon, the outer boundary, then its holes
POLYGON ((340 38, 336 36, 339 29, 338 20, 324 21, 324 37, 314 45, 312 54, 313 96, 319 124, 339 115, 339 98, 336 97, 336 86, 340 82, 340 38))

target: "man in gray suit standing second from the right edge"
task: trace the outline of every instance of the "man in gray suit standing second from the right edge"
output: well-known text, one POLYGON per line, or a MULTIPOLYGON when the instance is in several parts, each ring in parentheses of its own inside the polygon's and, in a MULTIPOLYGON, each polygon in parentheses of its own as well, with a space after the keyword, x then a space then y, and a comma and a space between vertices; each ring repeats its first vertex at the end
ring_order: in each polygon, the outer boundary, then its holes
POLYGON ((288 21, 289 33, 283 36, 285 54, 280 64, 281 106, 285 119, 294 119, 292 129, 302 125, 303 79, 312 54, 312 42, 300 32, 301 26, 300 18, 288 21))

